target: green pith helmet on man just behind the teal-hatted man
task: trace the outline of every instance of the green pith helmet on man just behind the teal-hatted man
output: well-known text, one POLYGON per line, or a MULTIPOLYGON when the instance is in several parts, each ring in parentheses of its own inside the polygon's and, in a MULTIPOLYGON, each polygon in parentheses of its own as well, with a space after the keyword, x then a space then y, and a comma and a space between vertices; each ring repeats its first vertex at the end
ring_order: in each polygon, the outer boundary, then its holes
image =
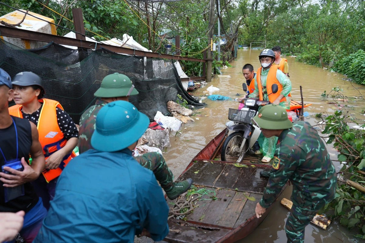
POLYGON ((115 72, 103 78, 100 88, 96 90, 94 96, 101 98, 126 97, 137 95, 132 81, 124 74, 115 72))

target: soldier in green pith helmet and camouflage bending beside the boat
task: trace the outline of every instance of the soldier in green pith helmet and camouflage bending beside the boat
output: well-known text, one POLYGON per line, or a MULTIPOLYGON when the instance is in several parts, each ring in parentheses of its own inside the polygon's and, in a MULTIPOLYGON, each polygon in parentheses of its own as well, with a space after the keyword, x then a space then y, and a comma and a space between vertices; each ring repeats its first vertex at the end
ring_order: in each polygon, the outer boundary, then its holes
POLYGON ((326 146, 309 123, 297 121, 292 124, 281 106, 266 105, 252 120, 265 137, 278 137, 273 169, 264 195, 256 205, 256 216, 265 213, 290 180, 293 207, 285 232, 288 242, 303 243, 304 228, 335 196, 337 178, 326 146))

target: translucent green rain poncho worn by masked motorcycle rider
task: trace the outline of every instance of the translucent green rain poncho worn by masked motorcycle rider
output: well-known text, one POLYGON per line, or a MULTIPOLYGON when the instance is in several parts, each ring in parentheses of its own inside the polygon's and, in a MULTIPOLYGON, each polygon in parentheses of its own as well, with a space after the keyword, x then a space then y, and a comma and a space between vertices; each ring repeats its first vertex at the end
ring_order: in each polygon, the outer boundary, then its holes
MULTIPOLYGON (((261 85, 262 86, 266 86, 266 79, 268 77, 268 73, 269 73, 269 68, 266 70, 261 70, 261 85)), ((277 70, 276 71, 276 79, 279 81, 279 83, 281 84, 281 86, 283 86, 283 90, 281 91, 280 94, 284 95, 284 97, 287 99, 286 101, 280 102, 279 105, 283 106, 285 109, 289 109, 290 106, 290 101, 288 98, 288 95, 290 93, 290 91, 292 90, 292 83, 290 82, 289 78, 281 71, 281 70, 277 70)), ((268 94, 267 92, 265 92, 266 89, 262 89, 263 94, 263 98, 265 101, 268 101, 268 94)), ((257 80, 255 80, 255 90, 253 91, 253 93, 251 93, 249 95, 249 97, 258 97, 258 86, 257 86, 257 80)), ((258 137, 258 144, 260 145, 260 150, 261 152, 264 154, 264 156, 268 156, 270 158, 274 157, 274 152, 276 149, 276 144, 277 144, 277 137, 273 136, 270 138, 265 138, 262 133, 260 134, 260 137, 258 137)))

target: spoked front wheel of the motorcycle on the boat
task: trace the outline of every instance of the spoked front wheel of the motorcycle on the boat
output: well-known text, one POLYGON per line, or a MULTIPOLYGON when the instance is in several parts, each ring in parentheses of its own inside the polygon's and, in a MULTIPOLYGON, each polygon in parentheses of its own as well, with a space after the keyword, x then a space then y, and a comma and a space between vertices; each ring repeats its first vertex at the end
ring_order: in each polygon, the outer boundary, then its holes
POLYGON ((247 141, 243 138, 242 132, 231 133, 223 143, 220 155, 221 160, 228 161, 229 159, 229 161, 236 160, 238 163, 241 162, 245 157, 247 146, 247 141), (245 145, 243 146, 242 153, 239 153, 242 142, 245 142, 245 145))

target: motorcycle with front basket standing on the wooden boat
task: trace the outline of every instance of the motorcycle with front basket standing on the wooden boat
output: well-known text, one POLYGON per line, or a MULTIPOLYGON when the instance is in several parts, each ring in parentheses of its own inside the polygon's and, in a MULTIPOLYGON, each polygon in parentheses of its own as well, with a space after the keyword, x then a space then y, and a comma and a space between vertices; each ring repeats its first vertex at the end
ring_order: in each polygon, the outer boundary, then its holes
MULTIPOLYGON (((273 84, 271 88, 272 94, 277 93, 277 84, 273 84)), ((242 84, 242 89, 247 91, 245 83, 242 84)), ((222 161, 238 158, 239 163, 246 154, 254 154, 252 148, 260 136, 261 130, 251 122, 251 119, 258 113, 260 107, 269 105, 271 102, 260 101, 259 98, 243 98, 241 103, 244 103, 241 110, 229 109, 228 111, 228 119, 231 122, 226 124, 229 132, 222 145, 222 161)))

